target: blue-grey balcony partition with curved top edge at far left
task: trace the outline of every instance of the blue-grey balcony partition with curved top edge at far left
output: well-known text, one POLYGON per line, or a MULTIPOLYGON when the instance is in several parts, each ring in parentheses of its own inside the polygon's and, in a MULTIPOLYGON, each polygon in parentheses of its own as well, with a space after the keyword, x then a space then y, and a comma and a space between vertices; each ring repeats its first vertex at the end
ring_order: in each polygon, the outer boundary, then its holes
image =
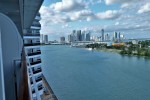
MULTIPOLYGON (((16 25, 6 15, 0 13, 1 43, 3 54, 3 72, 6 100, 16 99, 14 61, 21 59, 23 40, 16 25)), ((18 80, 17 80, 18 81, 18 80)), ((1 89, 1 88, 0 88, 1 89)), ((1 99, 3 100, 3 99, 1 99)))

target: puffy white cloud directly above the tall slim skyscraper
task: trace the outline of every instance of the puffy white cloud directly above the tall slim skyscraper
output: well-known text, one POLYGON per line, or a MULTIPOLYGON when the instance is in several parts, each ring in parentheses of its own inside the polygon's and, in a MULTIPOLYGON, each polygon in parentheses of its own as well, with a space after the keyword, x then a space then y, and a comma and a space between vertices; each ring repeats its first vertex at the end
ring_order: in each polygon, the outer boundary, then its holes
POLYGON ((116 19, 120 17, 121 12, 117 10, 107 10, 106 12, 97 13, 98 19, 116 19))

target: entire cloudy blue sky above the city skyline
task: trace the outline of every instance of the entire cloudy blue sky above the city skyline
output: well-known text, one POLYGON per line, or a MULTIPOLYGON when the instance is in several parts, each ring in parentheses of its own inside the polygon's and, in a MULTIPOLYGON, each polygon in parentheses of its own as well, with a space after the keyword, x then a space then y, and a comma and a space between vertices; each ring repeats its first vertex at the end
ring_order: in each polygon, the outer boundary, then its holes
POLYGON ((150 0, 44 0, 41 34, 49 40, 67 37, 72 30, 100 36, 120 32, 126 38, 150 38, 150 0))

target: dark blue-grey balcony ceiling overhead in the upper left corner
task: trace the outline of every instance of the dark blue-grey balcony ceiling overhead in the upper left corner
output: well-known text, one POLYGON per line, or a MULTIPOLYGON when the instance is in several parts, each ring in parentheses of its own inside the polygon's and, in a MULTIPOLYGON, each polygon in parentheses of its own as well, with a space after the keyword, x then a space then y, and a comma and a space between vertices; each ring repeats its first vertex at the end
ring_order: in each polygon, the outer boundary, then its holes
POLYGON ((30 28, 43 0, 0 0, 0 12, 10 17, 22 35, 30 28))

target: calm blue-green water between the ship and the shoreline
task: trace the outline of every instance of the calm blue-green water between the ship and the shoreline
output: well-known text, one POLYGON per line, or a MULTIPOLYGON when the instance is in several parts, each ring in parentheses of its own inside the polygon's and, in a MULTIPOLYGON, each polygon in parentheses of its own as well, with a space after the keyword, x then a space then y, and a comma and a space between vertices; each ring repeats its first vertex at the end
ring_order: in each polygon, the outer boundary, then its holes
POLYGON ((150 59, 42 46, 43 73, 59 100, 150 100, 150 59))

